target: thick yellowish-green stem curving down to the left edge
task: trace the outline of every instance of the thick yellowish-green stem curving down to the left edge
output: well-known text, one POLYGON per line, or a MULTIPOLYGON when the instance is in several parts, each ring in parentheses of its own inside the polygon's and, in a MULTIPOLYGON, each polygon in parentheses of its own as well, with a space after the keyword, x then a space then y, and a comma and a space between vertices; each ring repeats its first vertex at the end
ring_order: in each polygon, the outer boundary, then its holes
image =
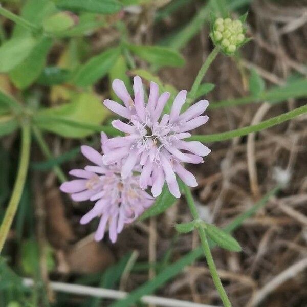
POLYGON ((25 123, 21 127, 21 134, 22 134, 21 153, 20 153, 20 162, 19 162, 17 178, 15 181, 10 202, 8 204, 2 224, 0 226, 0 253, 4 246, 5 240, 8 236, 14 216, 16 214, 16 210, 21 198, 21 193, 23 193, 29 168, 30 148, 31 148, 31 133, 30 133, 29 123, 25 123))

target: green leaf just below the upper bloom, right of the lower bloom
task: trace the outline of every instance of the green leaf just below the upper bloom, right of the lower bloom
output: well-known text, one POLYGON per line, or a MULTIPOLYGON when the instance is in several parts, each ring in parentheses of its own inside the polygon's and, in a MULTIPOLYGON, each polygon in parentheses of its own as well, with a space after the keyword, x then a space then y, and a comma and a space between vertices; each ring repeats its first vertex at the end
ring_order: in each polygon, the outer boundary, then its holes
POLYGON ((172 206, 178 199, 174 197, 168 190, 167 185, 163 186, 161 194, 158 196, 155 204, 146 210, 141 216, 140 220, 145 220, 150 216, 158 215, 172 206))

